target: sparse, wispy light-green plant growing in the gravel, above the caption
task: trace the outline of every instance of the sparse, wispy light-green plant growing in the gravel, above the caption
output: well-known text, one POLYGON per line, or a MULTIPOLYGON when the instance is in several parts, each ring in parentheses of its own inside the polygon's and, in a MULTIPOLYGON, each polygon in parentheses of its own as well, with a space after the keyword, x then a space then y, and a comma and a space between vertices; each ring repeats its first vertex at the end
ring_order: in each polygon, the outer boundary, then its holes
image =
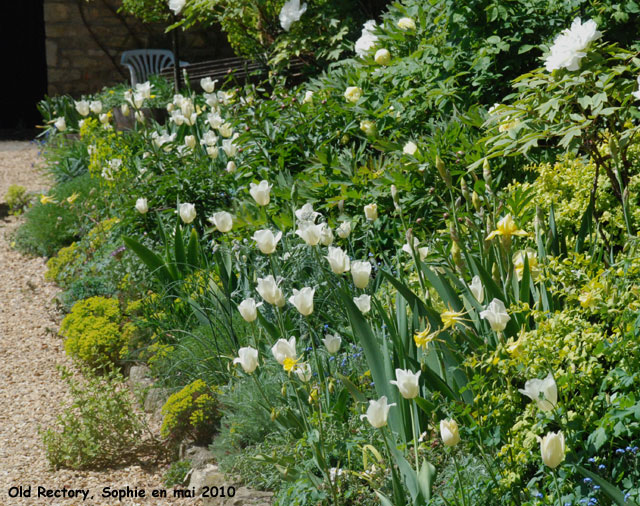
POLYGON ((122 376, 90 369, 82 373, 84 379, 78 379, 63 370, 73 400, 58 417, 58 426, 41 432, 51 467, 103 469, 136 462, 149 451, 161 453, 135 412, 122 376))

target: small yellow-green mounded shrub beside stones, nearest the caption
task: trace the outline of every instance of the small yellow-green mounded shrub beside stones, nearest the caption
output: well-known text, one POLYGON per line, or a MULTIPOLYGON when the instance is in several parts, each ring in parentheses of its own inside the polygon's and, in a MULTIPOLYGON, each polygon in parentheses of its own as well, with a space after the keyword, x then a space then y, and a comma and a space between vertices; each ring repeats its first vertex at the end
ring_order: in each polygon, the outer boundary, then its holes
POLYGON ((160 433, 171 442, 192 438, 196 443, 209 443, 220 419, 218 389, 196 380, 169 397, 162 415, 160 433))

